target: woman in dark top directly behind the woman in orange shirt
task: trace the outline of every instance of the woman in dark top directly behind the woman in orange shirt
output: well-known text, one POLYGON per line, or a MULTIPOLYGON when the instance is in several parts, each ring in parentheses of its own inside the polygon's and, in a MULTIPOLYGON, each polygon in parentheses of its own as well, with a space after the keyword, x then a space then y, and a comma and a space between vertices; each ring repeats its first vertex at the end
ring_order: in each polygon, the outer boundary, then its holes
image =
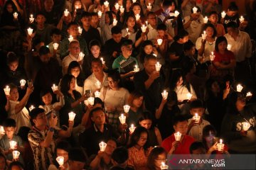
POLYGON ((144 111, 139 118, 139 125, 148 131, 148 145, 151 147, 161 145, 162 138, 158 128, 152 125, 153 117, 149 111, 144 111))

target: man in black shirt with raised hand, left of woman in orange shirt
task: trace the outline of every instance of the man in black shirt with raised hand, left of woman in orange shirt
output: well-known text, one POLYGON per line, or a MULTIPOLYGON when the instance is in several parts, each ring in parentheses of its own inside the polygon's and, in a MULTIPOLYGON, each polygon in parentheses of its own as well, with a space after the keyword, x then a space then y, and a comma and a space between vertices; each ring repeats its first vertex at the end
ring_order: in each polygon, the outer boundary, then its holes
POLYGON ((107 142, 111 137, 114 137, 122 144, 125 142, 125 129, 127 125, 119 126, 119 132, 122 134, 119 135, 112 125, 105 122, 105 113, 102 108, 92 109, 92 111, 90 111, 90 118, 93 122, 92 127, 82 132, 79 136, 80 145, 86 149, 88 156, 97 154, 100 149, 99 143, 102 141, 107 142))

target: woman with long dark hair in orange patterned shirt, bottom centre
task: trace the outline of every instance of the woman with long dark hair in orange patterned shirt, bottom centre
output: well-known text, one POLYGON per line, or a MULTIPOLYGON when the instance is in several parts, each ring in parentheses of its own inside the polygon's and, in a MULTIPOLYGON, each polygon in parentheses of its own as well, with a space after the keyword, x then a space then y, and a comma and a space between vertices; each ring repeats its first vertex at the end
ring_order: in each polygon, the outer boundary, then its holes
POLYGON ((146 159, 150 149, 148 145, 148 132, 146 128, 137 127, 132 133, 128 145, 128 165, 134 169, 146 170, 146 159))

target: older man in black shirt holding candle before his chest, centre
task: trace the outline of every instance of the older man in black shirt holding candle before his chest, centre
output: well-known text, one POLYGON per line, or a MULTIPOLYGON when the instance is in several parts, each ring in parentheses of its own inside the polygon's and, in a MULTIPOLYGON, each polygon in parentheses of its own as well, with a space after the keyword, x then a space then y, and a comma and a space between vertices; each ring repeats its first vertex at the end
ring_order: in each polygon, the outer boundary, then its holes
POLYGON ((155 113, 161 103, 161 92, 164 88, 164 79, 160 72, 156 72, 156 57, 147 55, 145 57, 144 69, 134 75, 134 86, 142 91, 145 98, 146 109, 155 113))

